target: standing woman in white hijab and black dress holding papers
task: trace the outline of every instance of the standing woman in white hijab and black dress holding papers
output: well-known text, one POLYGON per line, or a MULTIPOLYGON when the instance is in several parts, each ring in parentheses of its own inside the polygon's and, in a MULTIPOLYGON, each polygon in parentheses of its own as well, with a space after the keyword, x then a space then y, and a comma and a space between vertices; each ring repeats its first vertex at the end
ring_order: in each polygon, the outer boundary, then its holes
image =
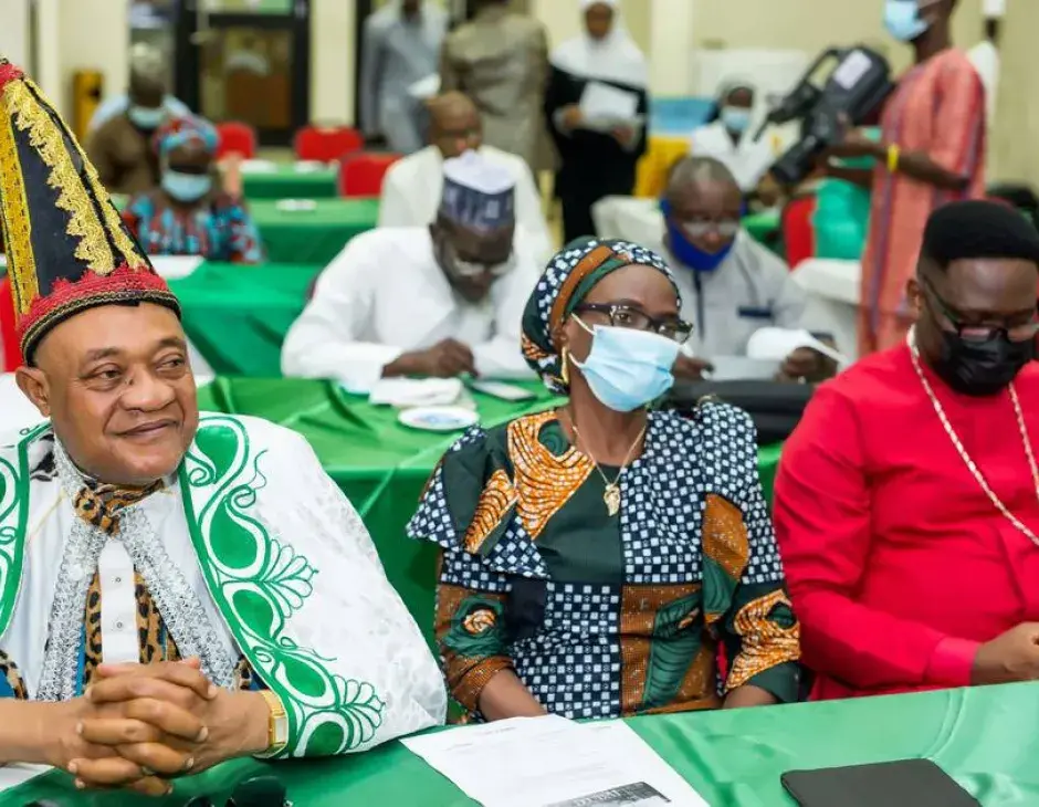
POLYGON ((617 0, 581 0, 581 9, 585 30, 552 54, 545 98, 560 157, 556 196, 567 242, 595 234, 597 201, 631 195, 649 107, 649 66, 617 0))

